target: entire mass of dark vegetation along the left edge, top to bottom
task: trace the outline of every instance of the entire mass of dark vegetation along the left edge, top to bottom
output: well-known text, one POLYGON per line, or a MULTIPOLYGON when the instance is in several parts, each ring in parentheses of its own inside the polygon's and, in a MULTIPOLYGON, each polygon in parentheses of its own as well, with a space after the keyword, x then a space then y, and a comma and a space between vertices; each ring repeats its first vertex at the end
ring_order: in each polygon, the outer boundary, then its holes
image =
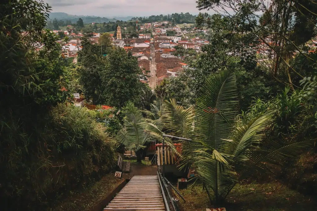
POLYGON ((57 37, 43 30, 49 8, 37 1, 0 7, 2 210, 43 210, 110 171, 114 141, 86 108, 67 102, 67 62, 57 37), (36 51, 37 42, 45 47, 36 51))

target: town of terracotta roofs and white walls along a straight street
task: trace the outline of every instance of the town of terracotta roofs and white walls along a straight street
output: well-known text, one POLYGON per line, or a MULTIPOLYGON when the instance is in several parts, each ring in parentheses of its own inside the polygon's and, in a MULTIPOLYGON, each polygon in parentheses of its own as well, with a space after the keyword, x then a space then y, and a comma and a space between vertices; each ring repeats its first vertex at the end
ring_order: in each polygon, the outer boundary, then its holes
MULTIPOLYGON (((91 23, 97 25, 98 23, 91 23)), ((135 22, 135 31, 132 38, 128 38, 126 27, 116 28, 115 34, 109 34, 113 46, 124 48, 126 52, 131 52, 138 59, 139 67, 148 75, 145 81, 154 89, 164 78, 177 76, 188 65, 184 63, 184 55, 178 54, 177 49, 192 49, 193 52, 201 52, 203 45, 209 44, 207 39, 208 30, 199 30, 193 24, 172 24, 170 21, 151 22, 138 24, 135 22), (203 34, 204 39, 193 36, 193 34, 203 34), (186 36, 190 34, 190 36, 186 36), (167 36, 172 35, 172 36, 167 36)), ((81 38, 83 33, 74 33, 73 26, 68 25, 68 30, 53 30, 55 34, 63 33, 69 38, 63 45, 64 56, 74 58, 77 62, 77 53, 81 50, 81 38)), ((86 33, 89 34, 89 33, 86 33)), ((91 33, 89 40, 92 43, 99 43, 102 33, 91 33)), ((130 36, 131 37, 131 36, 130 36)))

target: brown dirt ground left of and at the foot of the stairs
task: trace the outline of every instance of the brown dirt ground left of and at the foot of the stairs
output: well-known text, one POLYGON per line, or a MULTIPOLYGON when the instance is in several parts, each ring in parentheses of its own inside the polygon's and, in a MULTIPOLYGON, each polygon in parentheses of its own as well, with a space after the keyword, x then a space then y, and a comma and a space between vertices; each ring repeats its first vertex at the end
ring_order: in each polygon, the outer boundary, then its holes
POLYGON ((89 210, 109 192, 111 192, 117 185, 134 175, 157 175, 157 167, 152 166, 151 162, 142 161, 137 164, 136 160, 129 160, 131 162, 130 172, 123 173, 122 179, 114 177, 114 171, 103 176, 98 182, 89 187, 74 192, 70 191, 62 195, 60 200, 56 201, 56 206, 49 210, 52 211, 72 211, 72 210, 89 210))

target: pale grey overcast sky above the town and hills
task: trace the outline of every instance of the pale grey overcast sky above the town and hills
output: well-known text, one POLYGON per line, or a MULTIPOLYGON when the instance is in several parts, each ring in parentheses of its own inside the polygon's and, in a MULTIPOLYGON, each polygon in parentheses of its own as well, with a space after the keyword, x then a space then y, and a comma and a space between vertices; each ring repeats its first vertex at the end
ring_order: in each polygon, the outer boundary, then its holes
POLYGON ((193 15, 199 13, 196 0, 44 0, 44 2, 53 7, 52 12, 65 12, 71 15, 143 17, 176 12, 189 12, 193 15))

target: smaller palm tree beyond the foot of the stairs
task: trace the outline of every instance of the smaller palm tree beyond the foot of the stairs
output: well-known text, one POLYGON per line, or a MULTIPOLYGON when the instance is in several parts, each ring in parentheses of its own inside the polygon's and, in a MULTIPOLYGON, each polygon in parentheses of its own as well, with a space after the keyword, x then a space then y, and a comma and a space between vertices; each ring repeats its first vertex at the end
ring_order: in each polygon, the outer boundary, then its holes
POLYGON ((162 134, 162 131, 156 125, 146 122, 141 110, 133 106, 126 111, 124 128, 119 131, 117 140, 128 150, 134 150, 138 162, 141 162, 141 155, 146 148, 146 143, 161 139, 162 134))

